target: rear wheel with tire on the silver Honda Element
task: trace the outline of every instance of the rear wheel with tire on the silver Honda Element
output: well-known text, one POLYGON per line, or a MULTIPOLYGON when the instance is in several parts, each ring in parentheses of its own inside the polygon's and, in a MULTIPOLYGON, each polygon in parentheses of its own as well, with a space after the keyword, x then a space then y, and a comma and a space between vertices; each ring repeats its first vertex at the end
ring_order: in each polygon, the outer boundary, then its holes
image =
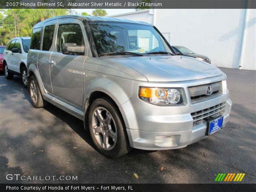
POLYGON ((28 92, 30 95, 31 103, 35 108, 44 107, 44 100, 34 75, 30 76, 28 79, 28 92))

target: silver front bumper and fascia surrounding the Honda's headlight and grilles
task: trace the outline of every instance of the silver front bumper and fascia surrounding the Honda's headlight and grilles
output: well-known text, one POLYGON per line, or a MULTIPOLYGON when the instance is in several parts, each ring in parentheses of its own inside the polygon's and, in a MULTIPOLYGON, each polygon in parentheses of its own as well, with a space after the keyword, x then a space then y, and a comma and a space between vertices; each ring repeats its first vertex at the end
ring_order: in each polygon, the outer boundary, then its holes
MULTIPOLYGON (((143 150, 168 150, 186 147, 189 144, 206 138, 206 121, 201 124, 194 124, 192 113, 206 108, 225 104, 222 111, 223 127, 229 120, 232 108, 232 101, 228 98, 226 80, 216 78, 202 80, 202 82, 158 85, 151 84, 152 87, 182 87, 185 95, 188 96, 188 87, 198 84, 208 84, 222 80, 222 94, 198 103, 192 103, 186 97, 184 106, 156 106, 140 100, 133 96, 129 102, 122 105, 122 113, 126 114, 125 122, 129 126, 126 128, 130 145, 133 148, 143 150)), ((148 86, 146 83, 135 84, 133 93, 136 95, 138 86, 148 86)), ((221 131, 221 130, 220 130, 221 131)))

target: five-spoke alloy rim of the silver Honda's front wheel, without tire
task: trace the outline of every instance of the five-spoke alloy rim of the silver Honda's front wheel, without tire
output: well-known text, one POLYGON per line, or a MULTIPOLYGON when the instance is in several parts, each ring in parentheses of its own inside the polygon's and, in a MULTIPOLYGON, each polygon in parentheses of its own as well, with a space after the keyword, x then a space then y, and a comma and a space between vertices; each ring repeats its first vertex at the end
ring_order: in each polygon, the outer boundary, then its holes
POLYGON ((114 118, 104 107, 97 107, 92 114, 92 131, 98 144, 104 150, 112 150, 117 141, 114 118))

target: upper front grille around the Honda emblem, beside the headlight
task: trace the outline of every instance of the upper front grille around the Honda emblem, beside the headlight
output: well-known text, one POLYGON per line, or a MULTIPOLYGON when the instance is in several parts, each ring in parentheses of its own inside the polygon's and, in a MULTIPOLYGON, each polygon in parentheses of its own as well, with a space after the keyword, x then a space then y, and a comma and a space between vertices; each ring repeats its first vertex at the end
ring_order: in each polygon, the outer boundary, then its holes
POLYGON ((222 91, 221 82, 189 87, 188 91, 190 94, 191 101, 198 102, 198 101, 200 101, 200 99, 203 99, 204 97, 214 96, 214 95, 220 93, 222 91), (212 86, 212 94, 210 94, 210 95, 207 95, 207 91, 206 91, 206 88, 208 86, 212 86))

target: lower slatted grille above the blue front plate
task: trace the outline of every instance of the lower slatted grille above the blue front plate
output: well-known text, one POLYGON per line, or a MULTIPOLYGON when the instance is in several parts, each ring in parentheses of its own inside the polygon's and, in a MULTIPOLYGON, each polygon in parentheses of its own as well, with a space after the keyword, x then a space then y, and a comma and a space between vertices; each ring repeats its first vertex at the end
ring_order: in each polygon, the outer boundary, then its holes
POLYGON ((217 117, 220 114, 223 114, 225 111, 226 103, 220 103, 218 105, 206 108, 204 110, 196 111, 191 113, 193 118, 193 126, 202 124, 205 120, 208 120, 210 117, 217 117))

